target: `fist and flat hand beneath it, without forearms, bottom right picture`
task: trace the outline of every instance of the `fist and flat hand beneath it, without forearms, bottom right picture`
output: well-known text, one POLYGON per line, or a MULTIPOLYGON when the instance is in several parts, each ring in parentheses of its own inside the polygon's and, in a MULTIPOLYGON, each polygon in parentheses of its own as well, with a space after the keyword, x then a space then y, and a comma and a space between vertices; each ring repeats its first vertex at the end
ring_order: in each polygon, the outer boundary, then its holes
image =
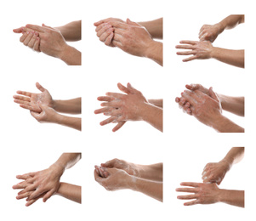
POLYGON ((220 191, 218 185, 221 184, 225 174, 230 170, 230 164, 223 160, 210 162, 202 172, 203 183, 184 182, 180 185, 184 188, 177 188, 178 192, 188 192, 191 195, 179 195, 179 200, 193 200, 185 202, 185 206, 195 204, 212 204, 219 201, 220 191), (188 188, 192 187, 192 188, 188 188))

